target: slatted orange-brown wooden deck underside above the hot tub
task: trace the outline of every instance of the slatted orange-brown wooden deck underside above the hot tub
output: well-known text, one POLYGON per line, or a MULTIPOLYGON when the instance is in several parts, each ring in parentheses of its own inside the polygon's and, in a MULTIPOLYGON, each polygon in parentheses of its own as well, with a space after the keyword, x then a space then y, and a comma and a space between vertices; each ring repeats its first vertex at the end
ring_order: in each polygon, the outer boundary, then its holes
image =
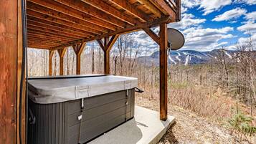
POLYGON ((28 47, 62 49, 180 19, 180 0, 27 0, 28 47))

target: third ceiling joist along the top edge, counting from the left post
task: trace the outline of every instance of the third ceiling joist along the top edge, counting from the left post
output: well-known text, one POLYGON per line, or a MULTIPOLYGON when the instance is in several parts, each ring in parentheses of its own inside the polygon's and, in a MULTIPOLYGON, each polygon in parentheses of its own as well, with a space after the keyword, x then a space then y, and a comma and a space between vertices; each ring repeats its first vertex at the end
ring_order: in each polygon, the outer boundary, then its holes
POLYGON ((106 4, 102 0, 81 0, 85 2, 86 4, 90 4, 91 6, 94 6, 96 9, 100 9, 101 11, 104 11, 107 14, 110 14, 111 16, 115 16, 115 18, 120 19, 121 21, 125 21, 128 24, 135 25, 138 24, 139 21, 133 18, 129 18, 128 16, 125 16, 123 12, 119 11, 118 9, 115 9, 113 6, 110 6, 109 4, 106 4))

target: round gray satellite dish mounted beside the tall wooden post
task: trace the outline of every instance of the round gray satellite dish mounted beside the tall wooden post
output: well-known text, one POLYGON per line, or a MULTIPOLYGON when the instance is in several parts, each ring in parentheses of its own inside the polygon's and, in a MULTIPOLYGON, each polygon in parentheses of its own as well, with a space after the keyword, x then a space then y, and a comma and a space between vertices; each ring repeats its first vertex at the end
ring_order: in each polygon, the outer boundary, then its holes
POLYGON ((168 28, 168 48, 171 50, 177 50, 184 46, 185 38, 177 29, 168 28))

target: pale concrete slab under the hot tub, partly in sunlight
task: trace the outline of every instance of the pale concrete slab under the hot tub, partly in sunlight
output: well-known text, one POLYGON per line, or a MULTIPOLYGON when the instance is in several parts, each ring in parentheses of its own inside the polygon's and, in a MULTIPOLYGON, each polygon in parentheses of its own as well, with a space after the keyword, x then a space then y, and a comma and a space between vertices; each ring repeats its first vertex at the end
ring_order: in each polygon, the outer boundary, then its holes
POLYGON ((101 135, 89 144, 155 144, 174 123, 174 117, 159 120, 159 112, 135 107, 135 118, 101 135))

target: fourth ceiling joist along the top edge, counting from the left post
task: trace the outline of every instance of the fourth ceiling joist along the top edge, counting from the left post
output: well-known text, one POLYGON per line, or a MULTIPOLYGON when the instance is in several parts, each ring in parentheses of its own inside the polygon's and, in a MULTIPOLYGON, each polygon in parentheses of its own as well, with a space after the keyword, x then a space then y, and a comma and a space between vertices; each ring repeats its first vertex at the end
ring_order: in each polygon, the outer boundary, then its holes
POLYGON ((153 20, 153 19, 151 19, 150 16, 147 16, 145 13, 143 13, 143 11, 140 11, 140 10, 136 9, 128 1, 110 0, 110 2, 120 6, 125 11, 128 11, 129 14, 132 14, 133 16, 136 16, 138 19, 141 19, 141 21, 143 21, 143 22, 153 20))

